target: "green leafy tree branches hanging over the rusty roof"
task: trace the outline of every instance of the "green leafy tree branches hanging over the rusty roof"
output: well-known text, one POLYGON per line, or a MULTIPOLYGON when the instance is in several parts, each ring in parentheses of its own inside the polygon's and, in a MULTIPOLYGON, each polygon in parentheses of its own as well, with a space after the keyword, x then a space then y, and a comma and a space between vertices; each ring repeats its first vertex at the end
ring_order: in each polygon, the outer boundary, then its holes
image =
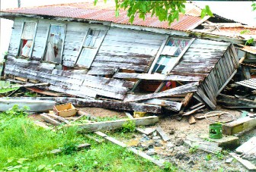
MULTIPOLYGON (((98 0, 94 0, 96 5, 98 0)), ((107 2, 107 0, 104 0, 107 2)), ((130 23, 133 23, 134 18, 138 15, 139 18, 145 20, 146 15, 151 14, 151 17, 158 17, 160 21, 168 21, 169 24, 178 20, 179 14, 185 13, 186 1, 146 1, 146 0, 115 0, 116 16, 119 15, 121 8, 127 11, 127 16, 130 17, 130 23)), ((213 16, 208 5, 201 11, 201 17, 206 14, 213 16)))

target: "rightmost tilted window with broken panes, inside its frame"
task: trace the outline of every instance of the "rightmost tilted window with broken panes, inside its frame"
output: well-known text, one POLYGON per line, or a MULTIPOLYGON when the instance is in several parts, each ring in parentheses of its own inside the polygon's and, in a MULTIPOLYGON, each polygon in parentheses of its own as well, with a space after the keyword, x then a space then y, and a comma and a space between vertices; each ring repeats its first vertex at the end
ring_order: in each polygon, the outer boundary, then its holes
POLYGON ((173 65, 176 64, 178 56, 187 47, 189 42, 190 39, 170 38, 152 71, 155 73, 168 73, 173 65))

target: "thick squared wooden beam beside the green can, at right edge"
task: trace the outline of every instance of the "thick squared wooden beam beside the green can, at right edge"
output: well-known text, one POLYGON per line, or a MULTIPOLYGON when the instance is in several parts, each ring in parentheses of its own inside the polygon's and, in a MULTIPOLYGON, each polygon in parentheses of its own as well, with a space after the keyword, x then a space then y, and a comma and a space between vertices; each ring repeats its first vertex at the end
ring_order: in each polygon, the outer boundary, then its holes
POLYGON ((223 124, 222 133, 231 136, 254 127, 256 127, 256 117, 242 117, 228 124, 223 124))

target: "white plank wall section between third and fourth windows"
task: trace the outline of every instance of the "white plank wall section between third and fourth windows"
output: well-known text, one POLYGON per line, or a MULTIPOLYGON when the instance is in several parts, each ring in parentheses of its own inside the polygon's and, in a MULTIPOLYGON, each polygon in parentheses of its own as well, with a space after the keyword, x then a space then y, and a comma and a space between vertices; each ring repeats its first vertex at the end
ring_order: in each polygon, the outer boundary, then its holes
POLYGON ((110 28, 92 67, 110 67, 145 72, 155 58, 165 35, 110 28))

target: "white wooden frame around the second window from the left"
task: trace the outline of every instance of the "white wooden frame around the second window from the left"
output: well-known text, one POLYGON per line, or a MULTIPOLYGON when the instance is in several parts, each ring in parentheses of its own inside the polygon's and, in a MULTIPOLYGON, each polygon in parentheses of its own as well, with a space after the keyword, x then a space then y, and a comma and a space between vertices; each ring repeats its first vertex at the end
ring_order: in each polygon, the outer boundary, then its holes
POLYGON ((50 25, 48 27, 48 30, 46 32, 46 41, 45 41, 45 44, 43 46, 43 54, 42 54, 42 57, 41 57, 41 61, 46 62, 46 63, 51 63, 51 64, 61 64, 61 65, 63 64, 63 52, 64 52, 64 44, 65 44, 65 39, 66 39, 66 27, 67 27, 66 23, 50 23, 50 25), (59 26, 59 27, 63 27, 64 28, 64 36, 63 36, 63 42, 62 42, 62 51, 60 52, 60 62, 59 63, 56 63, 54 61, 46 61, 44 59, 45 55, 46 55, 47 42, 48 42, 48 39, 50 38, 50 28, 52 26, 59 26))

